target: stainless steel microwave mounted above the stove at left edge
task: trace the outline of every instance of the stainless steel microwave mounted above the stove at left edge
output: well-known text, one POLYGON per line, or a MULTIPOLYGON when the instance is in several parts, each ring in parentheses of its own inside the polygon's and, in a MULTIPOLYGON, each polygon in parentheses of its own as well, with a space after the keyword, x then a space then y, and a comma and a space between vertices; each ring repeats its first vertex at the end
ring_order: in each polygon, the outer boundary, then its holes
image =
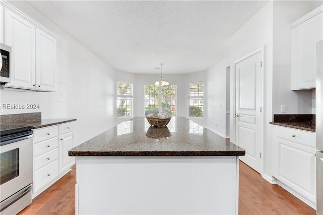
POLYGON ((11 47, 0 43, 1 49, 1 83, 11 82, 11 47))

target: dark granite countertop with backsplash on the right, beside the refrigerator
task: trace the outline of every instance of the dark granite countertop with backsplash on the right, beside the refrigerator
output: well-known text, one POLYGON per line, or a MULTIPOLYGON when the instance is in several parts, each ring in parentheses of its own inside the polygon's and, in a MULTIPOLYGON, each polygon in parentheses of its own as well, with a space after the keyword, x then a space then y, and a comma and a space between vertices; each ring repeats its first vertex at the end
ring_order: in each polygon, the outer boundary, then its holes
POLYGON ((315 132, 315 115, 312 114, 277 114, 273 117, 272 125, 301 129, 315 132))

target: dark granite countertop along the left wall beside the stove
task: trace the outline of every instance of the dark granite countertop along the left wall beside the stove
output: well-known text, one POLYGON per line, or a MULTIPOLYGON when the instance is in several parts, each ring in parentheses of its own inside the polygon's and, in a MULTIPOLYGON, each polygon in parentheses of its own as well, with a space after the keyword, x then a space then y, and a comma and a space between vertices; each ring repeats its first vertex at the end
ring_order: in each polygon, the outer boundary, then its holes
POLYGON ((47 126, 59 125, 62 123, 68 123, 72 121, 76 121, 76 119, 39 119, 34 121, 6 123, 2 124, 2 126, 32 126, 33 129, 37 129, 47 126))

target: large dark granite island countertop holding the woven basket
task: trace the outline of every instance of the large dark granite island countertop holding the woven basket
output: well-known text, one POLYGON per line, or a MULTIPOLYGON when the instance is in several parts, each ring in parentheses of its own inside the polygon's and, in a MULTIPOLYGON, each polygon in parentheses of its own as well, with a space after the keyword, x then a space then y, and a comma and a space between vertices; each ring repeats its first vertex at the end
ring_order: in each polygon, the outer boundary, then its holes
POLYGON ((184 118, 165 128, 135 117, 69 150, 70 156, 241 156, 245 150, 184 118))

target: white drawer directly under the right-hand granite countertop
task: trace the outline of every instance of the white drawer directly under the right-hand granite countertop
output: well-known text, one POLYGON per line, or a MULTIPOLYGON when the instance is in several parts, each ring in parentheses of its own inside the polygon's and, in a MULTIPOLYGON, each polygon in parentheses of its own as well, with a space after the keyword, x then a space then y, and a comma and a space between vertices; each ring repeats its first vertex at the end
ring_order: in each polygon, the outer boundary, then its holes
POLYGON ((278 138, 315 148, 315 133, 299 129, 277 126, 278 138))

